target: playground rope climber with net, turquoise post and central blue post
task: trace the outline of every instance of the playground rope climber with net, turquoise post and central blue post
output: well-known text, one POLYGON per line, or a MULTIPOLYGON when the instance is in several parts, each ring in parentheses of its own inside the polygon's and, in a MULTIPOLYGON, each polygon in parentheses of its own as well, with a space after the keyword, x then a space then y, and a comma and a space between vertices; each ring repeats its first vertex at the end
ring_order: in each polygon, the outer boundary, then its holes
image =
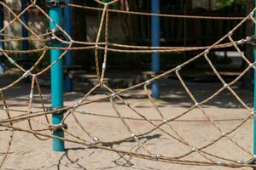
MULTIPOLYGON (((1 131, 11 131, 10 134, 10 140, 9 140, 9 147, 7 151, 5 152, 3 156, 3 161, 0 163, 0 168, 3 165, 3 162, 5 161, 6 156, 8 156, 10 146, 13 141, 13 135, 15 131, 21 131, 25 133, 32 133, 35 137, 38 139, 41 138, 49 138, 53 139, 53 149, 56 151, 63 151, 64 150, 64 141, 70 142, 73 144, 82 144, 83 146, 88 147, 89 149, 101 149, 101 150, 110 150, 113 152, 117 152, 121 155, 127 155, 127 156, 135 156, 138 158, 142 158, 145 160, 151 160, 151 161, 162 161, 167 163, 174 163, 174 164, 182 164, 182 165, 193 165, 193 166, 221 166, 221 167, 256 167, 255 164, 253 164, 254 156, 256 154, 256 143, 254 141, 254 150, 253 153, 248 150, 247 148, 244 148, 242 144, 239 144, 236 142, 236 139, 233 139, 230 134, 237 131, 239 127, 242 127, 245 122, 248 122, 252 118, 254 118, 254 126, 255 125, 255 109, 254 111, 241 99, 241 97, 236 94, 234 89, 232 88, 232 85, 238 82, 241 77, 243 77, 247 71, 250 71, 253 69, 255 71, 255 62, 250 62, 247 57, 241 53, 241 50, 239 46, 241 44, 245 43, 251 43, 255 41, 255 37, 245 37, 240 40, 233 40, 232 34, 236 32, 237 29, 239 29, 240 26, 242 26, 246 21, 253 22, 253 24, 256 24, 256 20, 253 18, 256 8, 253 9, 253 11, 248 14, 244 18, 236 18, 236 17, 207 17, 207 16, 189 16, 190 18, 194 19, 202 19, 202 20, 241 20, 241 22, 234 27, 230 32, 228 32, 224 37, 221 37, 218 42, 215 42, 211 46, 208 47, 159 47, 159 17, 186 17, 183 15, 172 15, 172 14, 158 14, 159 10, 159 1, 154 0, 154 2, 157 2, 156 6, 153 8, 153 14, 145 14, 145 13, 139 13, 139 12, 132 12, 132 11, 121 11, 116 9, 110 9, 109 6, 113 5, 114 3, 118 3, 119 0, 113 0, 108 3, 102 3, 102 1, 96 0, 97 3, 103 5, 103 8, 91 8, 86 7, 82 5, 77 5, 73 3, 67 3, 63 0, 48 0, 47 4, 49 7, 49 14, 44 12, 44 9, 39 7, 37 5, 37 1, 32 1, 32 3, 27 4, 27 8, 24 9, 23 12, 26 12, 25 10, 28 10, 29 8, 37 8, 38 11, 44 15, 44 17, 49 21, 50 29, 48 32, 44 32, 44 34, 38 35, 33 31, 31 28, 26 26, 26 24, 20 20, 19 14, 15 14, 11 8, 8 7, 7 4, 0 2, 0 5, 9 10, 9 13, 14 16, 14 20, 18 20, 20 24, 32 34, 32 37, 28 37, 29 40, 37 40, 40 43, 40 48, 36 49, 29 49, 26 50, 26 53, 34 53, 40 52, 38 56, 38 60, 35 62, 34 65, 32 65, 31 68, 25 69, 22 68, 22 66, 18 65, 15 60, 10 56, 10 54, 23 54, 25 53, 24 50, 14 50, 14 49, 1 49, 1 52, 4 54, 5 59, 9 61, 10 64, 14 65, 19 71, 22 72, 22 75, 15 80, 15 82, 10 83, 7 86, 0 88, 0 94, 2 99, 2 105, 3 105, 3 111, 6 113, 6 116, 8 118, 0 119, 0 127, 1 131), (87 9, 87 10, 99 10, 102 11, 102 17, 100 20, 96 41, 95 42, 79 42, 74 40, 67 31, 65 31, 62 28, 63 20, 62 20, 62 10, 64 7, 69 8, 81 8, 81 9, 87 9), (118 44, 118 43, 112 43, 108 42, 108 26, 109 26, 109 13, 110 12, 119 12, 119 13, 126 13, 126 14, 143 14, 143 15, 149 15, 152 17, 153 23, 156 23, 156 27, 153 28, 153 30, 156 30, 158 32, 157 35, 154 35, 153 39, 155 40, 154 43, 152 43, 152 46, 145 47, 145 46, 131 46, 131 45, 124 45, 124 44, 118 44), (102 32, 104 31, 104 41, 101 42, 101 36, 102 32), (64 38, 66 37, 66 38, 64 38), (45 42, 45 40, 48 40, 48 42, 45 42), (229 42, 223 42, 224 39, 229 40, 229 42), (81 47, 76 48, 73 47, 73 44, 79 44, 81 47), (247 68, 241 72, 241 74, 236 77, 235 80, 232 82, 225 82, 224 78, 221 77, 219 72, 216 70, 215 65, 212 63, 209 53, 211 53, 213 48, 227 48, 227 47, 234 47, 236 48, 237 52, 241 54, 241 58, 244 59, 247 62, 247 68), (73 105, 63 105, 63 68, 62 68, 62 59, 67 57, 67 53, 71 50, 85 50, 85 49, 94 49, 95 50, 95 59, 96 59, 96 77, 98 83, 91 88, 88 93, 84 94, 84 96, 79 99, 78 102, 73 103, 73 105), (99 51, 103 51, 103 60, 102 63, 99 62, 99 51), (108 87, 107 84, 103 82, 103 78, 105 77, 105 71, 107 69, 107 63, 108 63, 108 52, 115 52, 115 53, 148 53, 148 54, 160 54, 160 53, 172 53, 172 52, 184 52, 184 51, 201 51, 200 54, 197 54, 195 57, 183 62, 181 65, 177 65, 177 67, 170 69, 169 71, 166 71, 164 73, 161 73, 160 75, 153 77, 145 82, 138 83, 134 86, 131 86, 129 88, 121 89, 118 91, 114 91, 112 88, 108 87), (47 54, 46 52, 50 52, 50 59, 51 63, 47 65, 43 70, 36 70, 38 67, 38 64, 41 63, 47 54), (204 98, 203 100, 199 101, 195 98, 187 84, 183 81, 183 77, 180 74, 180 71, 183 69, 184 66, 189 65, 191 62, 193 62, 195 59, 204 58, 207 60, 208 65, 214 72, 214 74, 218 77, 219 82, 221 82, 222 86, 218 88, 218 91, 216 91, 214 94, 212 94, 209 97, 204 98), (102 66, 101 66, 102 65, 102 66), (46 108, 44 106, 44 95, 42 94, 42 90, 40 88, 40 83, 38 82, 38 77, 40 77, 42 74, 44 74, 46 71, 51 71, 51 103, 52 103, 52 109, 50 111, 46 111, 46 108), (155 84, 155 82, 159 81, 161 78, 166 77, 167 75, 175 74, 177 77, 178 82, 182 85, 184 92, 189 95, 189 98, 193 101, 192 105, 189 105, 189 109, 186 108, 186 111, 182 111, 181 113, 178 113, 177 116, 174 116, 172 118, 166 118, 166 116, 163 114, 162 111, 160 111, 159 106, 155 102, 155 100, 152 98, 157 98, 159 94, 155 93, 154 88, 152 90, 152 96, 151 93, 148 90, 148 87, 152 84, 155 86, 156 90, 158 84, 155 84), (6 91, 13 88, 15 85, 18 85, 21 80, 25 79, 26 77, 32 78, 32 85, 31 90, 29 94, 29 105, 26 109, 28 111, 24 113, 24 111, 18 110, 20 115, 16 116, 12 114, 12 109, 9 104, 9 101, 5 98, 6 91), (43 109, 43 111, 38 112, 32 112, 32 102, 34 98, 34 88, 38 88, 38 96, 40 99, 40 105, 43 109), (92 94, 97 88, 103 88, 108 91, 108 94, 101 96, 97 99, 91 99, 87 100, 88 96, 92 94), (148 118, 148 116, 144 116, 141 114, 141 111, 138 111, 136 107, 130 105, 125 98, 122 97, 121 94, 125 94, 128 91, 134 90, 136 88, 143 88, 145 96, 147 96, 147 102, 149 102, 150 105, 155 109, 158 116, 160 116, 160 119, 152 120, 148 118), (211 116, 207 115, 207 112, 205 111, 205 108, 203 105, 207 103, 209 100, 213 99, 214 97, 218 96, 221 92, 224 90, 227 90, 230 92, 230 94, 244 107, 244 109, 247 111, 247 115, 238 121, 240 122, 235 127, 232 127, 230 131, 225 131, 222 129, 218 123, 215 122, 214 119, 212 119, 211 116), (155 93, 155 94, 154 94, 155 93), (111 104, 111 109, 116 114, 115 116, 108 116, 110 119, 111 117, 117 118, 120 122, 122 122, 123 127, 125 128, 125 132, 129 133, 129 136, 125 136, 125 138, 121 139, 113 139, 111 141, 103 141, 101 138, 98 138, 93 135, 93 132, 90 132, 82 123, 80 123, 80 120, 76 117, 76 111, 86 105, 90 105, 92 103, 101 102, 103 100, 109 99, 109 103, 111 104), (143 131, 142 133, 135 133, 134 129, 131 128, 129 125, 129 122, 127 122, 128 119, 132 119, 132 117, 125 117, 122 116, 121 111, 119 111, 119 107, 116 106, 115 100, 118 100, 123 105, 125 105, 125 108, 131 111, 134 115, 139 117, 140 121, 147 122, 151 127, 147 130, 143 131), (188 115, 190 111, 193 111, 195 109, 198 109, 198 113, 201 113, 203 116, 207 117, 207 122, 212 124, 212 127, 215 128, 215 130, 218 132, 218 135, 216 138, 214 138, 212 141, 207 142, 207 144, 204 144, 202 146, 197 146, 192 144, 189 139, 184 139, 182 133, 178 132, 175 127, 172 127, 172 122, 177 121, 179 118, 188 115), (52 123, 48 121, 48 116, 52 116, 52 123), (81 136, 76 136, 75 133, 71 133, 69 129, 67 128, 66 120, 68 117, 73 116, 77 127, 82 129, 84 136, 83 138, 81 136), (44 122, 37 122, 35 118, 37 117, 45 117, 44 122), (31 122, 37 122, 38 125, 47 126, 46 128, 41 128, 39 130, 35 130, 32 127, 31 122), (156 122, 157 121, 157 122, 156 122), (17 122, 28 122, 29 127, 19 127, 17 125, 17 122), (166 126, 167 128, 164 128, 166 126), (154 150, 152 152, 150 149, 148 149, 147 144, 143 144, 142 138, 145 137, 149 133, 153 133, 155 131, 159 131, 160 133, 163 133, 170 139, 174 139, 176 143, 183 144, 184 147, 188 150, 184 150, 183 153, 180 155, 175 156, 169 156, 167 154, 158 153, 154 150), (69 134, 69 137, 64 136, 64 132, 69 134), (226 139, 230 141, 230 144, 233 144, 234 147, 241 150, 243 153, 247 154, 252 158, 252 160, 248 161, 238 161, 232 157, 226 157, 226 156, 220 156, 216 153, 211 153, 207 148, 210 146, 217 144, 221 139, 226 139), (142 153, 137 153, 136 151, 132 150, 123 150, 119 148, 113 148, 113 144, 122 144, 127 141, 134 141, 137 143, 137 145, 143 150, 142 153), (198 154, 198 156, 201 156, 204 158, 204 160, 194 160, 189 159, 187 156, 191 156, 192 154, 198 154), (254 154, 254 156, 253 156, 254 154)), ((11 25, 12 22, 9 22, 9 25, 11 25)), ((7 26, 8 27, 8 26, 7 26)), ((2 32, 1 32, 2 33, 2 32)), ((251 35, 249 35, 251 36, 251 35)), ((15 40, 22 41, 22 37, 14 37, 15 40)), ((8 41, 8 40, 7 40, 8 41)), ((14 40, 9 40, 14 41, 14 40)), ((153 59, 156 59, 153 62, 154 64, 157 64, 159 62, 159 56, 153 55, 153 59)), ((154 65, 154 71, 159 70, 159 65, 154 65)), ((256 78, 255 78, 256 80, 256 78)), ((256 88, 256 86, 255 86, 256 88)), ((256 94, 255 94, 256 95, 256 94)), ((254 99, 256 97, 254 96, 254 99)), ((256 100, 254 100, 256 105, 256 100)), ((196 112, 197 113, 197 112, 196 112)), ((98 115, 99 116, 99 115, 98 115)), ((227 121, 227 120, 226 120, 227 121)), ((115 126, 113 124, 113 126, 115 126)), ((255 138, 255 132, 254 132, 254 138, 255 138)))

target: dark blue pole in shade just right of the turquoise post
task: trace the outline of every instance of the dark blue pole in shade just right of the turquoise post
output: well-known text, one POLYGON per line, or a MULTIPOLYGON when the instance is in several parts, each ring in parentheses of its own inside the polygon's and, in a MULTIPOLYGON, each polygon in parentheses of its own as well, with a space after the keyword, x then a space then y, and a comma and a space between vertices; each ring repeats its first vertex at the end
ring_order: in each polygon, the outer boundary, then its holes
MULTIPOLYGON (((72 0, 67 0, 67 3, 72 3, 72 0)), ((72 36, 73 35, 73 20, 72 20, 72 8, 69 6, 64 8, 64 26, 67 33, 72 36)), ((66 54, 66 57, 64 58, 64 64, 67 67, 67 70, 69 70, 73 65, 73 51, 69 50, 66 54)), ((69 77, 68 72, 65 75, 65 90, 66 92, 72 92, 73 91, 73 78, 69 77)))

